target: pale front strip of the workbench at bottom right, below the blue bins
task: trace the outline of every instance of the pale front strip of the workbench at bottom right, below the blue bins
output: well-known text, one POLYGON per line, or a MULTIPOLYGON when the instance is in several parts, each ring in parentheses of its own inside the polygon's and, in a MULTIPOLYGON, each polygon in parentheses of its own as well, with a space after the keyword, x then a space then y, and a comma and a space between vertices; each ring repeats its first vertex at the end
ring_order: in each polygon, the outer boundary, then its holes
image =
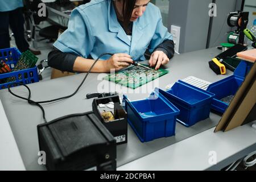
MULTIPOLYGON (((255 121, 253 123, 256 124, 255 121)), ((213 133, 213 127, 118 167, 117 170, 220 170, 256 150, 256 130, 251 127, 253 123, 225 133, 213 133)))

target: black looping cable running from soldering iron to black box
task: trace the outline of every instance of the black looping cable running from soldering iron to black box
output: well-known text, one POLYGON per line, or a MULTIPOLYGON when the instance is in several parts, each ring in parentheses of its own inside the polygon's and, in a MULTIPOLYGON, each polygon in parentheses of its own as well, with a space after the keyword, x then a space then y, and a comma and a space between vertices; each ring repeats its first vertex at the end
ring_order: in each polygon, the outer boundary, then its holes
POLYGON ((77 87, 77 89, 75 90, 74 93, 72 93, 72 94, 70 94, 70 95, 68 95, 68 96, 64 96, 64 97, 60 97, 60 98, 55 98, 55 99, 49 100, 49 101, 33 101, 33 100, 30 99, 30 98, 31 98, 31 90, 30 90, 30 88, 28 88, 28 86, 25 85, 25 84, 23 84, 23 83, 12 83, 12 84, 9 84, 9 85, 8 85, 8 91, 9 91, 13 96, 28 101, 28 104, 36 105, 36 106, 40 107, 40 109, 41 109, 42 112, 43 112, 44 122, 47 123, 47 120, 46 120, 46 113, 45 113, 45 111, 44 111, 44 109, 43 109, 43 106, 40 105, 40 104, 48 103, 48 102, 54 102, 54 101, 59 101, 59 100, 64 100, 64 99, 66 99, 66 98, 69 98, 69 97, 74 96, 74 95, 79 91, 79 89, 81 88, 82 84, 84 84, 84 81, 85 81, 86 78, 88 77, 90 71, 92 71, 92 68, 94 67, 94 65, 95 65, 95 64, 97 63, 97 61, 98 61, 102 56, 104 56, 104 55, 113 56, 114 54, 113 54, 113 53, 102 53, 100 56, 98 56, 98 58, 94 61, 94 63, 93 63, 92 66, 90 67, 89 71, 86 73, 86 75, 85 75, 84 79, 82 80, 81 84, 77 87), (25 87, 27 88, 27 90, 28 90, 28 98, 25 98, 25 97, 22 97, 22 96, 18 96, 17 94, 13 93, 13 92, 11 91, 11 85, 13 85, 13 84, 19 84, 19 85, 25 86, 25 87))

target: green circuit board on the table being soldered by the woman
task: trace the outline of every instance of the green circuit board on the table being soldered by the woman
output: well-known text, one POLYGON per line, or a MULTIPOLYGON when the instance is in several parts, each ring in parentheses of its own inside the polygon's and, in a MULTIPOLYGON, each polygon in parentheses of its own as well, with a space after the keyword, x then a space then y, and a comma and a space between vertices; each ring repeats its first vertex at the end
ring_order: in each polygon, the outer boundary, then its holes
MULTIPOLYGON (((143 65, 148 67, 146 64, 143 65)), ((104 80, 109 80, 116 84, 135 89, 167 73, 169 73, 169 71, 166 69, 158 69, 158 71, 156 71, 154 68, 148 70, 139 66, 131 66, 104 77, 104 80)))

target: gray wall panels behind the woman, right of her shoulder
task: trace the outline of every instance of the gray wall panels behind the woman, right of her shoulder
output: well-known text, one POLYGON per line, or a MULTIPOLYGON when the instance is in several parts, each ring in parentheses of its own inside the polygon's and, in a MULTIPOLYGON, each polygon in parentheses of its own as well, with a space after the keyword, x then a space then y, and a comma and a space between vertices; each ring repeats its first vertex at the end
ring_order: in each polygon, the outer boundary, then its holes
MULTIPOLYGON (((228 13, 237 9, 240 0, 216 0, 217 17, 213 18, 212 31, 209 36, 209 47, 219 46, 227 42, 227 31, 231 28, 226 23, 228 13)), ((256 0, 253 0, 256 2, 256 0)), ((181 27, 179 52, 190 52, 207 47, 209 30, 209 3, 212 0, 170 0, 169 25, 181 27)))

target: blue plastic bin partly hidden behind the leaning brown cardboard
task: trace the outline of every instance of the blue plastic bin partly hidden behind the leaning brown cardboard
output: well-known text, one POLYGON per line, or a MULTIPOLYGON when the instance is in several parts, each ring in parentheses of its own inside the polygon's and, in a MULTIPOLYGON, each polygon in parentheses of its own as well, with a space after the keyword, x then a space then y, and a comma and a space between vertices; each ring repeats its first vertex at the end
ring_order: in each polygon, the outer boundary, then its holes
POLYGON ((236 94, 252 65, 252 63, 247 61, 241 61, 234 71, 234 75, 214 82, 208 86, 207 91, 215 94, 211 109, 218 111, 219 113, 225 112, 229 104, 222 102, 221 99, 236 94))

